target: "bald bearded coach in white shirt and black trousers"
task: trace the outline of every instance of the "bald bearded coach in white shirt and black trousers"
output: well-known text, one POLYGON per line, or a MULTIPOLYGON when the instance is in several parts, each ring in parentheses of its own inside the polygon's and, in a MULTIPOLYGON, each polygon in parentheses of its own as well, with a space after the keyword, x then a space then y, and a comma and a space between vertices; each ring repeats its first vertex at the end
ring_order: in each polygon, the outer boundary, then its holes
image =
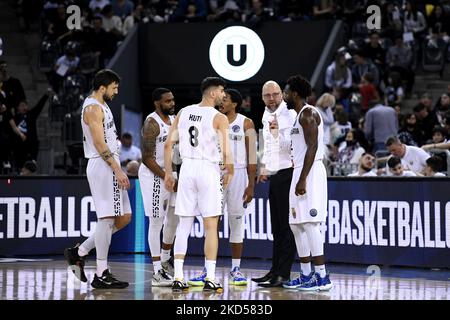
POLYGON ((289 186, 293 170, 290 132, 295 112, 287 109, 281 88, 275 81, 264 84, 262 99, 266 106, 262 118, 264 152, 258 182, 265 182, 270 176, 273 251, 270 271, 252 280, 262 287, 281 287, 290 278, 296 252, 294 236, 289 227, 289 186))

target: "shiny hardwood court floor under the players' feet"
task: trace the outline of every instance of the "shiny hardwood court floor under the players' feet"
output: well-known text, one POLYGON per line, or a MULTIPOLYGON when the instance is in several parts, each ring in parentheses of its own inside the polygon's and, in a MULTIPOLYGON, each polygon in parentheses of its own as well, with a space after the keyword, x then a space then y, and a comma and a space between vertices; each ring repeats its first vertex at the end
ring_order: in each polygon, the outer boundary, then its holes
MULTIPOLYGON (((89 281, 95 272, 95 260, 86 266, 89 281)), ((201 271, 202 258, 185 264, 185 276, 201 271)), ((216 275, 224 292, 204 293, 190 288, 175 294, 171 288, 151 287, 152 265, 143 255, 113 257, 110 267, 130 286, 123 290, 95 290, 81 283, 67 268, 62 257, 52 259, 0 259, 0 300, 450 300, 450 271, 425 269, 380 269, 380 277, 366 272, 367 266, 330 265, 334 287, 329 292, 299 292, 283 288, 260 288, 228 284, 229 259, 220 259, 216 275), (225 267, 226 266, 226 267, 225 267)), ((250 279, 265 274, 269 261, 242 262, 250 279)), ((293 275, 297 276, 294 267, 293 275)))

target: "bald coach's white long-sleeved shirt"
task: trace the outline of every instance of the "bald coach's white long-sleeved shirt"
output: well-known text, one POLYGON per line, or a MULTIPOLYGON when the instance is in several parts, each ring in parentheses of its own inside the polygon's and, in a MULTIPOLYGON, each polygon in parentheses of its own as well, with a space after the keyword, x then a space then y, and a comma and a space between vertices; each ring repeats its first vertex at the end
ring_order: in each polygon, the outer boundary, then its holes
POLYGON ((292 168, 291 159, 291 129, 296 118, 295 110, 288 110, 286 102, 282 101, 275 111, 266 107, 264 111, 263 138, 264 151, 261 163, 271 173, 276 173, 281 169, 292 168), (278 121, 278 137, 275 138, 270 133, 270 123, 274 115, 278 121))

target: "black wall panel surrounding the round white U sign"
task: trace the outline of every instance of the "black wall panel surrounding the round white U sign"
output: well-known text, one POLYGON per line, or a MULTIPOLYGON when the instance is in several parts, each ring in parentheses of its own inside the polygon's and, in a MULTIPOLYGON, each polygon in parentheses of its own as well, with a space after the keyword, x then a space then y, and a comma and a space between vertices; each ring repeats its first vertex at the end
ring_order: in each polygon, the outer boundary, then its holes
MULTIPOLYGON (((272 79, 283 85, 290 75, 296 73, 310 78, 334 23, 266 22, 253 28, 264 44, 264 63, 252 78, 228 83, 243 95, 252 97, 251 118, 256 120, 257 127, 264 110, 262 84, 272 79)), ((223 23, 141 25, 139 77, 144 114, 152 111, 151 92, 159 86, 168 87, 174 92, 177 109, 199 101, 202 79, 217 76, 209 62, 211 41, 220 30, 229 26, 223 23)))

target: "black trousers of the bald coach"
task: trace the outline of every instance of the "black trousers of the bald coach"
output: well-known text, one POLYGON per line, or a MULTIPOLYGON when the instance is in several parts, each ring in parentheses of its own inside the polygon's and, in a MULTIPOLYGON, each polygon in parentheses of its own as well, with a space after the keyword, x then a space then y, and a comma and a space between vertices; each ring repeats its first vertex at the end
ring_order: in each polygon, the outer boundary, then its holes
POLYGON ((289 279, 295 259, 295 239, 289 226, 289 189, 292 168, 282 169, 270 176, 270 222, 273 233, 272 268, 276 276, 289 279))

